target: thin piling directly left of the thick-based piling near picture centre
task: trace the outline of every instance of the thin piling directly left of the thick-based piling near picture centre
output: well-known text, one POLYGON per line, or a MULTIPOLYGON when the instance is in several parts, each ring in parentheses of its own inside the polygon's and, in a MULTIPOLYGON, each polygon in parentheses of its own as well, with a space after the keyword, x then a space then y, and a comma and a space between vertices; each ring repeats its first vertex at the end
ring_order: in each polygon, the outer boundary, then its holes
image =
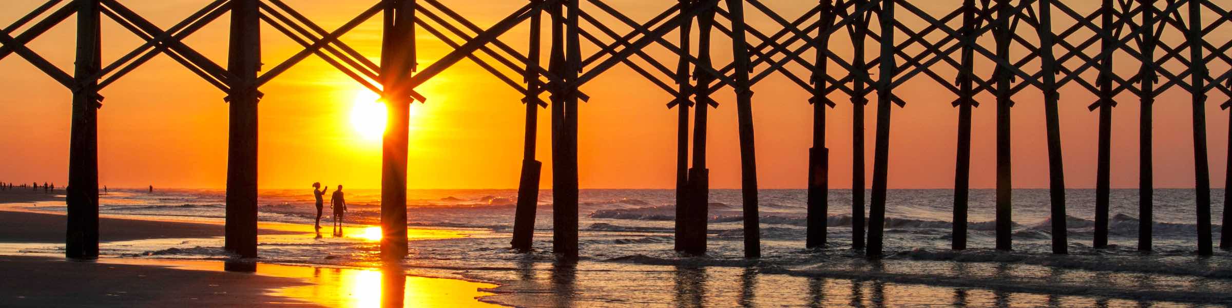
MULTIPOLYGON (((691 10, 690 2, 692 0, 680 0, 680 15, 684 15, 691 10)), ((690 57, 690 41, 692 31, 692 16, 689 16, 685 22, 680 25, 680 59, 676 63, 676 91, 675 101, 668 103, 668 107, 676 107, 676 224, 675 224, 675 243, 674 249, 676 251, 684 250, 685 246, 685 229, 687 228, 687 208, 689 208, 689 107, 692 106, 690 101, 690 95, 692 95, 692 85, 689 80, 689 57, 690 57)))

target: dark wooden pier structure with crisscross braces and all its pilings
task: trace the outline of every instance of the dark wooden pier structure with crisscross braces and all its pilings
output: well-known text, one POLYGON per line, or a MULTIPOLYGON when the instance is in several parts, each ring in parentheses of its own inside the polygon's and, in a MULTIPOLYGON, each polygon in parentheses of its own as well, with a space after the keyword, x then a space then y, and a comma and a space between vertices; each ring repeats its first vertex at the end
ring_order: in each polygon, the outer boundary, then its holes
MULTIPOLYGON (((1185 91, 1193 97, 1196 246, 1201 255, 1212 254, 1204 107, 1207 94, 1232 94, 1232 71, 1209 69, 1214 64, 1220 68, 1232 64, 1228 57, 1232 42, 1207 41, 1214 38, 1212 31, 1232 22, 1232 12, 1221 6, 1227 5, 1225 1, 819 0, 816 5, 809 4, 813 7, 801 16, 784 16, 766 6, 765 0, 647 0, 647 5, 670 7, 638 21, 610 6, 610 0, 525 0, 520 9, 488 27, 451 10, 446 0, 371 1, 371 9, 333 31, 318 26, 283 0, 216 0, 168 28, 149 22, 126 7, 122 0, 51 0, 5 27, 0 32, 0 58, 16 54, 73 92, 65 254, 78 259, 99 254, 97 112, 103 99, 100 91, 160 54, 228 94, 225 246, 240 256, 257 254, 260 87, 312 55, 379 94, 388 105, 381 217, 382 253, 389 257, 407 254, 408 108, 415 101, 431 99, 416 92, 415 87, 462 60, 477 63, 525 96, 526 140, 513 237, 513 246, 519 250, 531 249, 538 202, 542 168, 535 152, 538 108, 548 108, 552 129, 552 249, 564 259, 575 259, 580 171, 578 124, 582 102, 590 99, 583 89, 614 67, 627 65, 674 97, 665 103, 679 113, 675 248, 687 254, 706 251, 707 112, 719 106, 712 95, 729 89, 736 94, 738 115, 744 250, 748 257, 761 255, 753 140, 756 96, 752 89, 771 75, 786 78, 812 96, 807 103, 812 103, 814 111, 813 140, 807 149, 808 168, 801 170, 808 174, 806 244, 809 248, 825 246, 830 176, 825 120, 827 108, 838 106, 834 97, 849 99, 853 107, 853 244, 865 249, 869 256, 878 256, 886 237, 891 112, 896 105, 907 106, 907 100, 894 90, 909 80, 931 80, 938 91, 957 97, 952 101, 958 108, 954 249, 967 248, 971 115, 972 108, 979 106, 977 96, 991 96, 992 100, 983 100, 995 103, 992 106, 997 115, 995 248, 1013 248, 1010 111, 1015 106, 1015 94, 1039 90, 1044 95, 1046 117, 1052 246, 1056 254, 1067 253, 1066 182, 1057 106, 1062 103, 1058 89, 1077 87, 1098 97, 1090 102, 1090 110, 1099 112, 1098 123, 1092 123, 1099 131, 1093 245, 1108 245, 1111 112, 1117 101, 1136 97, 1142 106, 1138 249, 1151 250, 1153 102, 1165 91, 1185 91), (218 18, 228 12, 230 49, 223 67, 184 43, 184 38, 208 23, 223 22, 218 18), (758 28, 747 23, 745 16, 754 14, 772 21, 771 25, 758 28), (26 43, 73 16, 78 27, 76 62, 70 74, 52 65, 26 43), (384 36, 381 63, 372 63, 339 37, 378 16, 383 18, 384 36), (100 52, 103 17, 145 43, 112 62, 103 62, 100 52), (524 23, 531 28, 526 48, 501 42, 508 31, 524 23), (275 28, 276 36, 290 37, 303 46, 303 51, 274 65, 262 65, 261 25, 275 28), (415 44, 419 36, 441 39, 452 51, 430 65, 418 65, 415 44), (1163 37, 1183 39, 1161 39, 1163 37), (713 53, 727 52, 712 48, 715 42, 731 43, 731 63, 715 63, 713 53), (542 49, 542 44, 547 44, 547 49, 542 49), (843 44, 850 44, 854 52, 844 54, 832 49, 843 44), (598 51, 585 54, 583 46, 598 51), (652 57, 647 53, 650 47, 667 48, 675 57, 652 57), (1140 69, 1117 73, 1114 59, 1130 60, 1140 69), (670 68, 670 60, 675 60, 675 69, 670 68), (977 65, 993 69, 987 74, 977 70, 977 65), (809 74, 800 75, 798 68, 809 74), (864 115, 869 102, 875 103, 876 122, 872 127, 871 202, 865 221, 864 115), (690 121, 695 127, 692 136, 690 121)), ((1035 107, 1034 102, 1026 105, 1035 107)), ((1232 101, 1221 105, 1223 108, 1230 106, 1232 101)), ((1232 172, 1228 176, 1232 181, 1232 172)), ((1226 198, 1225 208, 1227 202, 1232 201, 1226 198)), ((1228 225, 1228 211, 1223 212, 1223 225, 1228 225)), ((1232 249, 1230 228, 1222 232, 1220 246, 1232 249)))

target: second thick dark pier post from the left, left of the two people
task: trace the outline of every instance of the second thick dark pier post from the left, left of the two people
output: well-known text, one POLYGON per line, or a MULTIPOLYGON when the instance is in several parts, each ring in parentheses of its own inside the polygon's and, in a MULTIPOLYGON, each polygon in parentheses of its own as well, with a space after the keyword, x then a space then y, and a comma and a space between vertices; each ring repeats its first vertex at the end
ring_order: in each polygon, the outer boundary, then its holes
POLYGON ((230 132, 227 152, 227 250, 256 256, 257 71, 261 70, 259 0, 232 2, 230 132))

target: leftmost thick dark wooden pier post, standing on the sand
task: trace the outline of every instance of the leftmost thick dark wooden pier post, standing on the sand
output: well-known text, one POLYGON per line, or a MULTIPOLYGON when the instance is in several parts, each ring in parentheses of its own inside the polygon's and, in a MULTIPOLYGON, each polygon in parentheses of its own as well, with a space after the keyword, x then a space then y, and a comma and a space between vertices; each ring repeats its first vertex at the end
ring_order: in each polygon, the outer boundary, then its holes
POLYGON ((79 0, 76 65, 80 89, 73 92, 69 136, 68 232, 64 254, 71 259, 99 257, 99 107, 94 75, 102 67, 99 0, 79 0))

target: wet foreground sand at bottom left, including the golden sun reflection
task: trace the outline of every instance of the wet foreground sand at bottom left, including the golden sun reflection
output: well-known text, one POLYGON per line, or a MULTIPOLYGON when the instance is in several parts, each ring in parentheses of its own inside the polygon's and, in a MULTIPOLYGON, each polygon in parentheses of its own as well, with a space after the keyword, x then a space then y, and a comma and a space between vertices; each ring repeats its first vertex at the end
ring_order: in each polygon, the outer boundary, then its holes
POLYGON ((0 256, 0 272, 2 307, 499 307, 476 299, 495 285, 402 269, 0 256))

